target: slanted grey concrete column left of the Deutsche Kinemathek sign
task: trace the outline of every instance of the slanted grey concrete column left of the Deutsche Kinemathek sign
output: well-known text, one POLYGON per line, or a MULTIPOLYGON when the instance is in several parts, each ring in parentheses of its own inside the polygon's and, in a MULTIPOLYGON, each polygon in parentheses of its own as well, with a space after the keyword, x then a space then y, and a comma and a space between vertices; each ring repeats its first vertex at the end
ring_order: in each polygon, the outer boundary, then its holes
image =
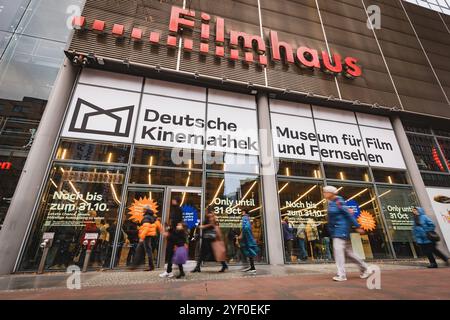
POLYGON ((65 59, 0 231, 0 274, 14 271, 76 76, 77 69, 65 59))

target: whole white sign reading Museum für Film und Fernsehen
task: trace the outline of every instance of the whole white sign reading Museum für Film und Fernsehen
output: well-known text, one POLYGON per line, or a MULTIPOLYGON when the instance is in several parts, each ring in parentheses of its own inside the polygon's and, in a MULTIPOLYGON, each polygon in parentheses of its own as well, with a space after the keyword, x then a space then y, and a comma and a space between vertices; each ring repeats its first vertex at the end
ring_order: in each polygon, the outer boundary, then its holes
POLYGON ((271 118, 276 157, 405 169, 392 130, 277 113, 271 118))

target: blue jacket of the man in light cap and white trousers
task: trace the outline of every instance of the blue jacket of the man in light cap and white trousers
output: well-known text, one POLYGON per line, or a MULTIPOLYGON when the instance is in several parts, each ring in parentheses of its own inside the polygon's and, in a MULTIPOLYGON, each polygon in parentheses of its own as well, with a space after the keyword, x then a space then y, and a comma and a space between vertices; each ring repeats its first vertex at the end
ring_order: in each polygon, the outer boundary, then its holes
POLYGON ((350 228, 360 228, 353 213, 345 205, 342 197, 337 196, 328 202, 328 231, 332 238, 349 239, 350 228))

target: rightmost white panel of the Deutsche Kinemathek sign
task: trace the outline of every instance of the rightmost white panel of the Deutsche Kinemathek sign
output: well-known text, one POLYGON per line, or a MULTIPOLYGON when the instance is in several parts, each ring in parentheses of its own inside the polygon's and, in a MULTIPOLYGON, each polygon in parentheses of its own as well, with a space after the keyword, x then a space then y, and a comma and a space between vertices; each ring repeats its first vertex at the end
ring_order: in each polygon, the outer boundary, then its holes
POLYGON ((256 111, 208 105, 206 149, 259 154, 256 111))

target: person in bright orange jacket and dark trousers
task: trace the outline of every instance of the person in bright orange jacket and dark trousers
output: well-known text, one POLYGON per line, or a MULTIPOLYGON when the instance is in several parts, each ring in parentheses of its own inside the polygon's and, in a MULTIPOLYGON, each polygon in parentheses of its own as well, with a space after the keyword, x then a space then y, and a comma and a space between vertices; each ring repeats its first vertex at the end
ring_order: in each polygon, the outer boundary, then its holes
POLYGON ((147 253, 149 268, 147 271, 155 270, 153 264, 153 248, 156 247, 158 232, 162 232, 161 221, 151 209, 145 209, 144 218, 138 230, 139 244, 136 248, 136 256, 133 259, 134 268, 145 258, 147 253))

